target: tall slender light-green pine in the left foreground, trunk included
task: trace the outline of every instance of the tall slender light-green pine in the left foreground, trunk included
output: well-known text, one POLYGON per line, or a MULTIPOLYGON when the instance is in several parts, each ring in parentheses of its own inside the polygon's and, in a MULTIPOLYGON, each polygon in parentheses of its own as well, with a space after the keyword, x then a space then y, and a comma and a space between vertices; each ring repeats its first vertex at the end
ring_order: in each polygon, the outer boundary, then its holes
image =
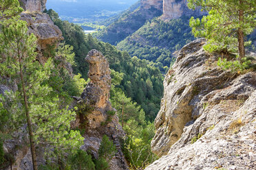
POLYGON ((28 34, 27 23, 19 17, 12 17, 3 19, 1 26, 0 74, 10 77, 18 85, 18 90, 12 94, 12 106, 6 110, 16 117, 14 121, 22 122, 19 119, 25 115, 33 168, 36 170, 35 145, 54 149, 54 152, 47 151, 48 156, 60 158, 62 152, 81 147, 83 137, 80 132, 70 129, 75 112, 68 110, 68 106, 61 106, 58 95, 45 84, 54 64, 52 58, 44 65, 36 61, 36 37, 28 34))

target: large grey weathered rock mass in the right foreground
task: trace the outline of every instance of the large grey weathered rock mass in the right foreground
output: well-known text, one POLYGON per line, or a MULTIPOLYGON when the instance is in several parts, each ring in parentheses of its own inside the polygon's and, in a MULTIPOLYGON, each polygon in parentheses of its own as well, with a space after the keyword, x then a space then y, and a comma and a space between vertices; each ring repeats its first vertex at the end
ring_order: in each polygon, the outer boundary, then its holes
POLYGON ((151 142, 162 158, 148 170, 255 167, 256 73, 222 71, 204 43, 183 47, 164 79, 151 142))

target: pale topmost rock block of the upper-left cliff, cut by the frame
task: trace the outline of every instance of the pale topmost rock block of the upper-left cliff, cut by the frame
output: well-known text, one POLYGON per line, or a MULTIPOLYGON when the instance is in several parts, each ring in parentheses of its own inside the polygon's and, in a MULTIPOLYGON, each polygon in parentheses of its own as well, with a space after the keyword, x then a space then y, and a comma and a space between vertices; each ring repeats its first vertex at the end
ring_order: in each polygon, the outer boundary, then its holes
POLYGON ((21 7, 27 11, 43 12, 47 0, 19 0, 21 7))

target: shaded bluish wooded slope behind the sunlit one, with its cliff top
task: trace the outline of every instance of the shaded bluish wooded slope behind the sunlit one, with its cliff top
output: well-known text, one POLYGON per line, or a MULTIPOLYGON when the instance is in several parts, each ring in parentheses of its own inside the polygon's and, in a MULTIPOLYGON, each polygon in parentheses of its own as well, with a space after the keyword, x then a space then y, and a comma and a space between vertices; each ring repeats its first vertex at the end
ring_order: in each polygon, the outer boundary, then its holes
POLYGON ((114 23, 95 34, 95 36, 103 42, 116 45, 127 36, 136 32, 146 21, 162 14, 161 1, 141 0, 140 3, 139 8, 122 15, 117 21, 114 21, 114 23))

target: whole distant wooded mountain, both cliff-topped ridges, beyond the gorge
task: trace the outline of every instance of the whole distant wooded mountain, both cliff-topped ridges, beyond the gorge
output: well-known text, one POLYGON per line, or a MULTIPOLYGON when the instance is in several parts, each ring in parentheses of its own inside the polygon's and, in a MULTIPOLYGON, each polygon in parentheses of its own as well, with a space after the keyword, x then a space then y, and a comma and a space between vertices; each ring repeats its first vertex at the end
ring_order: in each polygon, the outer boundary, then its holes
POLYGON ((112 23, 94 36, 132 57, 154 62, 164 73, 175 60, 173 53, 194 40, 190 17, 202 14, 200 10, 189 10, 186 0, 140 0, 137 9, 116 20, 112 17, 112 23))

